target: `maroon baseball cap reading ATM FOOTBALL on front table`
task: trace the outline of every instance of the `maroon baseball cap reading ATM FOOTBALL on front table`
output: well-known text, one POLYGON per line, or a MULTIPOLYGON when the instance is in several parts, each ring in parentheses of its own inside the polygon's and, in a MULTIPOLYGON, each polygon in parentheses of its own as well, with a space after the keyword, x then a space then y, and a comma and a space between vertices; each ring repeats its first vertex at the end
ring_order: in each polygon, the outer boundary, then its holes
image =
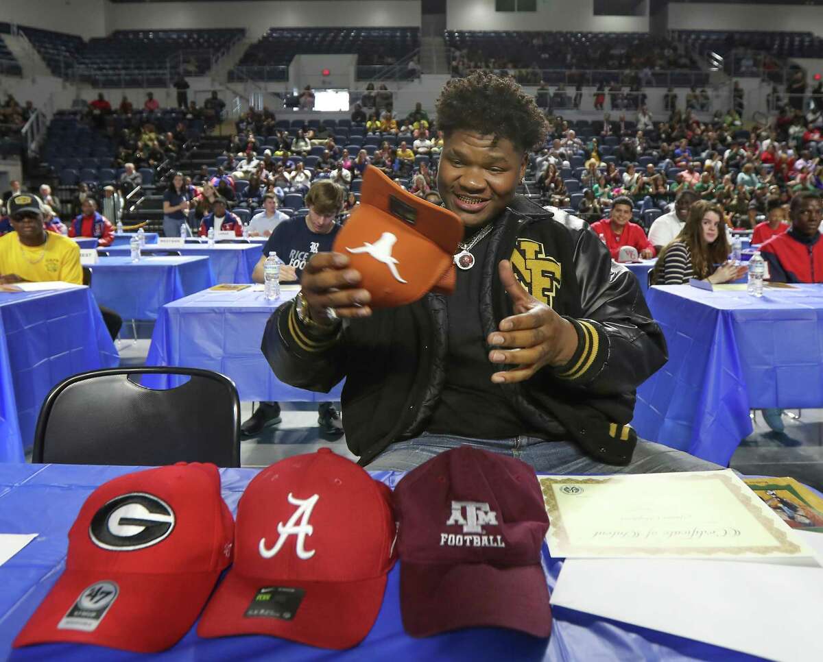
POLYGON ((405 475, 394 499, 406 632, 507 627, 551 634, 540 563, 549 520, 530 466, 458 447, 405 475))

